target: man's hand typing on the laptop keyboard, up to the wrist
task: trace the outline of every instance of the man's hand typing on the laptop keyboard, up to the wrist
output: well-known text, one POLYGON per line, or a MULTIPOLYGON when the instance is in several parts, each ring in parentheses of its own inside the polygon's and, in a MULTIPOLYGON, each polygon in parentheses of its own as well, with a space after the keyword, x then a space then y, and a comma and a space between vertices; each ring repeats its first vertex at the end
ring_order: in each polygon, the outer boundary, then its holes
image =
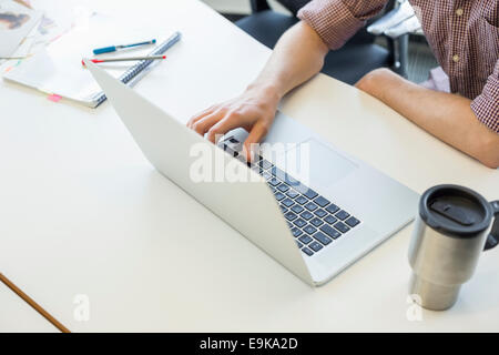
POLYGON ((246 158, 252 159, 252 144, 258 143, 267 134, 274 121, 279 95, 272 88, 249 87, 240 97, 215 104, 194 115, 187 126, 198 134, 207 133, 207 139, 215 139, 236 128, 243 128, 249 135, 244 142, 246 158))

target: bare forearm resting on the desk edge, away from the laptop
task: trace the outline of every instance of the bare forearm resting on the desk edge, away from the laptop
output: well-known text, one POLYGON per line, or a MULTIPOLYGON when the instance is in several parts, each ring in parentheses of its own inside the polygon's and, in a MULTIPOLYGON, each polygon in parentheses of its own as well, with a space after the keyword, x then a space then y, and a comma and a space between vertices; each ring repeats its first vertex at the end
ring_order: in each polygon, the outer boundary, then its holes
POLYGON ((488 168, 499 166, 499 134, 477 120, 471 100, 425 89, 389 70, 373 71, 356 87, 488 168))

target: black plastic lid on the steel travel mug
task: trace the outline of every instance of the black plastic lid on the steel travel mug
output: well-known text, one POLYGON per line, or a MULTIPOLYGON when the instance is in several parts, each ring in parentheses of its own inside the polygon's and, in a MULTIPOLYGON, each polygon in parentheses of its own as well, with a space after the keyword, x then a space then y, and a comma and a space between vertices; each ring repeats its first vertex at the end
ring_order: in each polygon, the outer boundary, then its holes
POLYGON ((487 230, 492 220, 489 202, 459 185, 438 185, 419 200, 419 215, 431 229, 455 237, 469 237, 487 230))

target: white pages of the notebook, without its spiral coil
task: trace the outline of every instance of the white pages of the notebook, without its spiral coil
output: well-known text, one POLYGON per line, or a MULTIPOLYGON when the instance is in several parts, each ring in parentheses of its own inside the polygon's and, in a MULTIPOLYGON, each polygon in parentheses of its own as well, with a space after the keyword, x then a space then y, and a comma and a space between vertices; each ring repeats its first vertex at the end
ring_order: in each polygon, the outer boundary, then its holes
MULTIPOLYGON (((157 32, 156 28, 135 28, 129 22, 94 13, 81 26, 73 27, 43 50, 4 72, 3 79, 34 88, 48 93, 49 98, 65 98, 95 108, 100 103, 95 95, 102 90, 89 70, 82 65, 82 59, 93 57, 92 49, 112 44, 134 43, 153 38, 157 43, 162 43, 166 37, 157 32)), ((130 48, 105 53, 101 58, 149 55, 155 47, 130 48)), ((136 62, 132 61, 100 65, 114 78, 121 78, 135 64, 136 62)))

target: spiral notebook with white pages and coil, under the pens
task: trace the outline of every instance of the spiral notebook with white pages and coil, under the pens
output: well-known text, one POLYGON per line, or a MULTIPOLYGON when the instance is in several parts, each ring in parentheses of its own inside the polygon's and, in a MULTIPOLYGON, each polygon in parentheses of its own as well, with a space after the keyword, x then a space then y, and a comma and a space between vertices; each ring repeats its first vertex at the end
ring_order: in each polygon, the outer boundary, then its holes
MULTIPOLYGON (((23 60, 20 65, 7 72, 3 79, 42 91, 49 94, 49 98, 65 98, 96 108, 105 100, 105 95, 90 72, 81 64, 81 59, 92 57, 93 48, 140 41, 144 38, 155 38, 160 44, 126 52, 116 51, 105 57, 159 55, 181 39, 180 32, 174 32, 166 39, 154 36, 153 32, 157 30, 131 30, 130 27, 116 26, 108 19, 93 19, 91 30, 73 29, 51 43, 44 51, 23 60)), ((132 84, 159 62, 152 60, 142 60, 134 64, 133 62, 112 62, 103 63, 101 67, 123 83, 132 84)))

